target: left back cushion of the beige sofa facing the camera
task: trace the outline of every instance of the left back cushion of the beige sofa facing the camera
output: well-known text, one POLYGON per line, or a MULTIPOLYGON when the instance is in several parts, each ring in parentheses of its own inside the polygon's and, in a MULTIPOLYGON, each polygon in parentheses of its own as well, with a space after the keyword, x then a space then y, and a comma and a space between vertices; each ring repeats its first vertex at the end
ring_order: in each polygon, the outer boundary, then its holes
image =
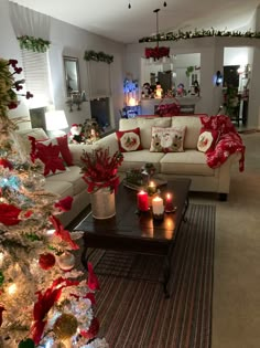
POLYGON ((150 149, 152 127, 171 127, 171 117, 134 117, 120 118, 119 130, 140 128, 141 145, 143 149, 150 149))

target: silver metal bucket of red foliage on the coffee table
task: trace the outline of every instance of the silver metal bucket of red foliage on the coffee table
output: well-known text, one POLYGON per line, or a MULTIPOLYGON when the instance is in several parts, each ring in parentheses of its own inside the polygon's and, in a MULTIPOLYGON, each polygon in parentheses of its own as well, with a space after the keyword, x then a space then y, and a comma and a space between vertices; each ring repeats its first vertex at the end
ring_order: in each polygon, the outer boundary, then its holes
POLYGON ((96 219, 108 219, 116 214, 115 191, 119 184, 117 175, 123 156, 116 151, 109 155, 109 149, 95 149, 91 152, 84 151, 82 156, 83 179, 88 184, 91 199, 93 217, 96 219))

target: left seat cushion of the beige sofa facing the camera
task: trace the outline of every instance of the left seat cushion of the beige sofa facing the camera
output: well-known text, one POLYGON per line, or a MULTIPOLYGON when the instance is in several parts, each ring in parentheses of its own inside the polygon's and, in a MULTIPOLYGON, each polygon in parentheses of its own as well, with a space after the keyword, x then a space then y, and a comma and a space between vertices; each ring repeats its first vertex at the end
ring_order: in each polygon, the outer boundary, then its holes
POLYGON ((160 172, 160 160, 163 156, 163 152, 150 152, 148 149, 124 152, 122 165, 118 168, 118 170, 127 171, 130 169, 140 169, 145 162, 149 162, 154 165, 156 172, 160 172))

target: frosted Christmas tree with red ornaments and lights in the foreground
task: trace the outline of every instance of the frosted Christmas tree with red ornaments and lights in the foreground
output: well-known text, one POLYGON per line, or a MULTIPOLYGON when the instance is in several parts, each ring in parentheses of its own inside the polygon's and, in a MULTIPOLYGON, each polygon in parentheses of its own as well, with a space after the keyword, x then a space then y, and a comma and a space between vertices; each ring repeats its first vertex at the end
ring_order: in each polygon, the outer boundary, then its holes
POLYGON ((72 198, 44 190, 42 162, 8 117, 24 83, 17 64, 0 59, 0 347, 107 348, 94 313, 98 280, 90 263, 87 276, 75 267, 82 234, 58 220, 72 198))

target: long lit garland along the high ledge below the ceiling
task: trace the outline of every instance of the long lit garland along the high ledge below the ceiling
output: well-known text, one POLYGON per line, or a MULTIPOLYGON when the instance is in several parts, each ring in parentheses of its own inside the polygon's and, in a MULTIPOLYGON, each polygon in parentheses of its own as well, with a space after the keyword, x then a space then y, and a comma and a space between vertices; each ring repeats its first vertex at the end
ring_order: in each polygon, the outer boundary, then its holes
POLYGON ((249 39, 260 39, 260 32, 252 31, 226 31, 226 30, 216 30, 216 29, 202 29, 195 31, 181 31, 177 32, 169 32, 156 34, 153 36, 145 36, 139 40, 139 42, 158 42, 158 41, 178 41, 182 39, 195 39, 195 38, 209 38, 209 36, 229 36, 229 38, 249 38, 249 39))

